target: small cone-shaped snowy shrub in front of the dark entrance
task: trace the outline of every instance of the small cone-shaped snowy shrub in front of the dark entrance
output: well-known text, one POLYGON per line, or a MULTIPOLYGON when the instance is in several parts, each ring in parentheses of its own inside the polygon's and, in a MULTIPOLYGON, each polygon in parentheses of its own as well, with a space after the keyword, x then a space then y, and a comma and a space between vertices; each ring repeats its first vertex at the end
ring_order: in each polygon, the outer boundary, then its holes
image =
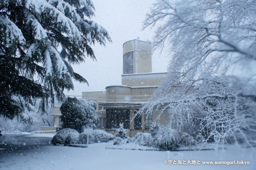
POLYGON ((113 144, 126 144, 129 142, 129 136, 127 136, 125 129, 123 129, 123 124, 120 124, 120 128, 117 129, 116 134, 114 135, 113 144))

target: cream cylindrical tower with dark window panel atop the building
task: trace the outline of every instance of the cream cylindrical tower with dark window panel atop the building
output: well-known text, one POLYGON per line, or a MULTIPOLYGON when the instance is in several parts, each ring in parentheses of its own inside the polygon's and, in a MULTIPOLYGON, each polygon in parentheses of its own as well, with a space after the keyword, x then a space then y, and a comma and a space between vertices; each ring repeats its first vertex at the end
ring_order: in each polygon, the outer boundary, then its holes
POLYGON ((123 74, 152 72, 151 43, 138 39, 123 44, 123 74))

